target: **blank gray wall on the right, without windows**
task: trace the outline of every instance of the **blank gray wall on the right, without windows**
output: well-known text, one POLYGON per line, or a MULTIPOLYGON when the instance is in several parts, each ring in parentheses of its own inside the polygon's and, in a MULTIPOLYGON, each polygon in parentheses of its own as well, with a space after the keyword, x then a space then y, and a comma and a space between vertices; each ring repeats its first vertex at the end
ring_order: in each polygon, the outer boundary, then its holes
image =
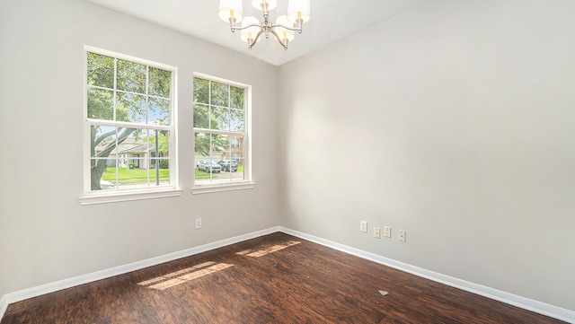
POLYGON ((431 1, 281 66, 282 225, 575 311, 573 17, 431 1))

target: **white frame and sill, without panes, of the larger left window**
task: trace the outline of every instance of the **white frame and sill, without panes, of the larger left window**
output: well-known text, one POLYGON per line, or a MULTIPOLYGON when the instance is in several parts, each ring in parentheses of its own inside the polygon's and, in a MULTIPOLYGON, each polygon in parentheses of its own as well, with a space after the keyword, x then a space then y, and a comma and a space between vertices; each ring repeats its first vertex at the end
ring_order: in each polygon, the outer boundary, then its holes
POLYGON ((146 59, 132 57, 121 53, 112 52, 102 48, 93 48, 91 46, 84 46, 84 195, 79 198, 81 205, 93 205, 129 200, 140 200, 159 197, 178 197, 181 196, 182 190, 178 184, 178 150, 177 150, 177 126, 178 126, 178 105, 177 105, 177 73, 178 70, 175 66, 168 66, 161 63, 156 63, 146 59), (97 119, 88 118, 88 66, 87 59, 88 53, 99 54, 107 57, 114 57, 121 60, 134 62, 146 66, 152 66, 172 72, 172 86, 171 86, 171 111, 170 111, 170 126, 155 126, 150 124, 137 124, 127 123, 121 121, 106 121, 100 122, 97 119), (133 189, 109 189, 109 190, 92 190, 91 189, 91 156, 90 156, 90 129, 93 125, 117 126, 117 127, 130 127, 137 126, 146 129, 167 130, 170 132, 170 148, 169 148, 169 179, 170 185, 161 187, 148 187, 148 188, 133 188, 133 189))

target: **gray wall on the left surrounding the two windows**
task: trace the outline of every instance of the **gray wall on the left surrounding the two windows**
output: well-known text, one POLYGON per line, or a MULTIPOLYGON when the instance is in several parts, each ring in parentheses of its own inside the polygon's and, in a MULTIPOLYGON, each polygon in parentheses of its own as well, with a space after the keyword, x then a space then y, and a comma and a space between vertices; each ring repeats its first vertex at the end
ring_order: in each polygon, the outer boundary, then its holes
POLYGON ((0 14, 0 295, 278 225, 278 67, 80 0, 0 14), (179 67, 181 197, 79 205, 84 44, 179 67), (252 84, 255 188, 191 195, 194 71, 252 84))

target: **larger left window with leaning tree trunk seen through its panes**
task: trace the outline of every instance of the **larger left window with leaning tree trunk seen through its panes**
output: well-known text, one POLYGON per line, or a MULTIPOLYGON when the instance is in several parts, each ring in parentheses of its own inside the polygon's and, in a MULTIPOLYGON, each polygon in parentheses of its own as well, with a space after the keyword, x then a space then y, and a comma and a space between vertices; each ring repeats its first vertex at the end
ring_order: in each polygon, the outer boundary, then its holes
POLYGON ((86 58, 84 192, 176 188, 175 68, 87 47, 86 58))

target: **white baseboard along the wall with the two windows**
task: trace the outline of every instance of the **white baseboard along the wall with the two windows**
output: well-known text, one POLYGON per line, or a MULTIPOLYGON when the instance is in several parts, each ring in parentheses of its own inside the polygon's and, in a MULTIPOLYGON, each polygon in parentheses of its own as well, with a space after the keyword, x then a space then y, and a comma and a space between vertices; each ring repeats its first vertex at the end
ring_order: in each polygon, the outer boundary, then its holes
POLYGON ((109 278, 111 276, 119 276, 126 274, 131 271, 136 271, 139 269, 143 269, 145 267, 152 267, 156 266, 165 262, 169 262, 178 258, 185 258, 190 257, 195 254, 199 254, 201 252, 206 252, 208 250, 215 250, 218 248, 225 247, 226 245, 234 244, 240 241, 251 240, 266 234, 270 234, 272 232, 280 232, 279 226, 271 227, 266 230, 261 230, 258 232, 251 232, 248 234, 243 234, 239 236, 235 236, 230 239, 222 240, 222 241, 215 241, 213 243, 208 243, 204 245, 200 245, 195 248, 181 250, 169 254, 165 254, 163 256, 155 257, 155 258, 147 258, 145 260, 129 263, 127 265, 119 266, 119 267, 111 267, 109 269, 105 269, 102 271, 96 271, 91 274, 86 274, 82 276, 75 276, 72 278, 60 280, 54 283, 46 284, 46 285, 39 285, 35 287, 31 287, 28 289, 23 289, 20 291, 16 291, 13 293, 6 293, 0 299, 0 319, 4 317, 4 312, 9 304, 13 302, 21 302, 23 300, 40 296, 45 293, 54 293, 58 290, 74 287, 76 285, 84 285, 91 283, 93 281, 102 280, 105 278, 109 278))

